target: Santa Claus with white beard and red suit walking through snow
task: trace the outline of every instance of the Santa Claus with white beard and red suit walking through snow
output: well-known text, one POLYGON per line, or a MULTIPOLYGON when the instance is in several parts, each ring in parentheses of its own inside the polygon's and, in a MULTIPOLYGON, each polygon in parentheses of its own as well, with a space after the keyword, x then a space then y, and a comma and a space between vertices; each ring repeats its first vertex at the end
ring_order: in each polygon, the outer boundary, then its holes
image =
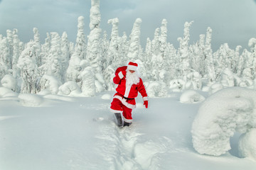
POLYGON ((142 95, 144 106, 148 108, 148 98, 142 79, 137 74, 138 64, 129 62, 115 72, 114 84, 118 84, 110 109, 117 118, 117 125, 129 126, 132 123, 132 109, 136 108, 135 98, 138 91, 142 95))

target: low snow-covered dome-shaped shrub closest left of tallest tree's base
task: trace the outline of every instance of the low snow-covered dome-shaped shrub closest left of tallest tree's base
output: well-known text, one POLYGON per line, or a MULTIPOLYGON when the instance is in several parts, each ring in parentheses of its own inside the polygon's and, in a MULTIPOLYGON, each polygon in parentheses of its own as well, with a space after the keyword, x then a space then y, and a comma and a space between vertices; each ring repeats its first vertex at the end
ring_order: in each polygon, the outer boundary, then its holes
POLYGON ((75 81, 67 81, 65 84, 59 87, 58 94, 60 95, 70 95, 70 96, 78 96, 82 91, 75 81))

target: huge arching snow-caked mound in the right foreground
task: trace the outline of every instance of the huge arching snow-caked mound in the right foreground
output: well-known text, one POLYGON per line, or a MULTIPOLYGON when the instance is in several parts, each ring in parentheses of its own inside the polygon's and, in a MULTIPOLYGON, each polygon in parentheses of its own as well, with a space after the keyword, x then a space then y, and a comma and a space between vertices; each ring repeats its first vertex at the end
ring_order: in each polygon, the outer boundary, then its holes
POLYGON ((193 147, 200 154, 225 154, 235 131, 256 127, 255 106, 255 90, 233 87, 216 92, 201 104, 193 120, 193 147))

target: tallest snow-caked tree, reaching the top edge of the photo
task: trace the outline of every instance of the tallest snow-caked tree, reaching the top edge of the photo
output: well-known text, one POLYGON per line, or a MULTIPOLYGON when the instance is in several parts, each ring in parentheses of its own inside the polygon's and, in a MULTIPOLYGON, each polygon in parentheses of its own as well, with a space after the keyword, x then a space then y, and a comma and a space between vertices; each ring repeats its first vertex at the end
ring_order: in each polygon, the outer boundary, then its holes
POLYGON ((100 47, 100 0, 92 0, 90 8, 90 35, 88 36, 86 59, 90 62, 92 72, 95 74, 96 91, 105 89, 102 70, 102 50, 100 47))

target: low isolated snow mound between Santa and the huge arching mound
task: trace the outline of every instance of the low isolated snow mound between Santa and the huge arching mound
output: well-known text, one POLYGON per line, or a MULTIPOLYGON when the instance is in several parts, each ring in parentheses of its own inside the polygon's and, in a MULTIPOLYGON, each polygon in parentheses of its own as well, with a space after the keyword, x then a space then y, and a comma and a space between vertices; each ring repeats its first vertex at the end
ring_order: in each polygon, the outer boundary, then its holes
POLYGON ((184 91, 180 97, 181 103, 199 103, 205 99, 205 97, 193 90, 184 91))

